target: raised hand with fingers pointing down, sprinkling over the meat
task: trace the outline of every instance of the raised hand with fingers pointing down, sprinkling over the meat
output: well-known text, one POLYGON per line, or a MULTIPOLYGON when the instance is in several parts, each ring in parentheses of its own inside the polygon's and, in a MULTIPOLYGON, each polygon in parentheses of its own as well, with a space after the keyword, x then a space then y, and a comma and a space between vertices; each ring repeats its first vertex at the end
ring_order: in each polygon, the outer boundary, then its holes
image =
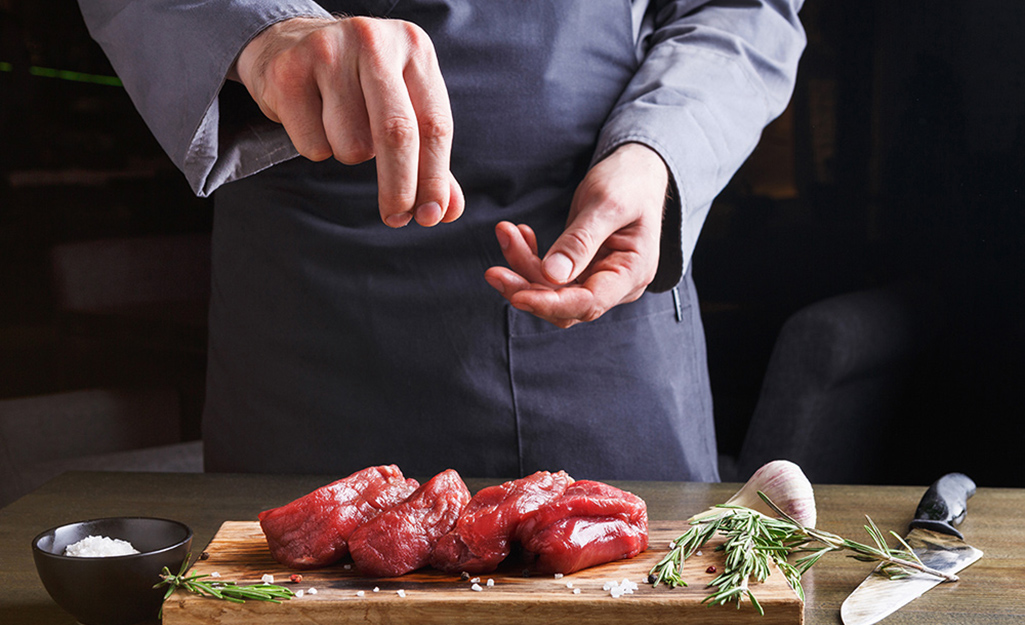
POLYGON ((300 155, 346 165, 377 159, 381 219, 453 221, 462 190, 449 170, 452 111, 434 44, 398 19, 297 17, 250 42, 237 78, 300 155))

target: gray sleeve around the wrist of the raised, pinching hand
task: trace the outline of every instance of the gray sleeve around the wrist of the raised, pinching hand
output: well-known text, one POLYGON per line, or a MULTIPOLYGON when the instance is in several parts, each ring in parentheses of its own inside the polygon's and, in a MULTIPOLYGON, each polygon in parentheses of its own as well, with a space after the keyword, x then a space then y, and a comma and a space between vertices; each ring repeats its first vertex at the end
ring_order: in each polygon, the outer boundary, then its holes
POLYGON ((242 48, 269 26, 326 17, 305 0, 79 0, 89 34, 190 186, 224 182, 296 156, 283 128, 261 116, 222 123, 221 90, 242 48), (239 124, 244 128, 239 128, 239 124))

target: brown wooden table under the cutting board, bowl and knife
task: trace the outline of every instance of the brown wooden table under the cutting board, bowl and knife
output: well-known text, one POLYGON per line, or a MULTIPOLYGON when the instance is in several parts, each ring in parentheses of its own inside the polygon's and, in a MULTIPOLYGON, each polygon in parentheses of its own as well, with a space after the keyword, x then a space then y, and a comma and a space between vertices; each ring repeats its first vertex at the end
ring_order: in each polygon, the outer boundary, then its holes
MULTIPOLYGON (((324 476, 66 473, 0 510, 0 623, 72 625, 75 620, 46 594, 30 543, 39 532, 72 520, 152 515, 181 520, 199 549, 224 520, 255 519, 331 481, 324 476)), ((489 484, 467 481, 470 490, 489 484)), ((615 483, 642 496, 653 519, 683 519, 725 501, 738 485, 615 483)), ((864 514, 903 534, 925 492, 915 487, 816 487, 818 526, 867 541, 864 514)), ((884 621, 886 625, 1020 625, 1025 623, 1025 490, 981 488, 961 526, 985 551, 957 584, 942 584, 884 621)), ((837 625, 844 598, 871 565, 830 555, 805 577, 808 625, 837 625)), ((728 615, 726 615, 728 617, 728 615)), ((725 617, 724 623, 728 622, 725 617)))

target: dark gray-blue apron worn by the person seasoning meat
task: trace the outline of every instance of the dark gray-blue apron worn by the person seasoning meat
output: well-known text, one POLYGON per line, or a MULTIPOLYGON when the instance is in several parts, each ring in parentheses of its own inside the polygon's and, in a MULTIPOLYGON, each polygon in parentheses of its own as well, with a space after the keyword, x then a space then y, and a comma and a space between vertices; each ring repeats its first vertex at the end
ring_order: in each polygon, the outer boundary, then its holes
POLYGON ((628 0, 325 6, 430 35, 466 210, 386 227, 373 163, 295 159, 217 192, 207 470, 717 480, 689 276, 569 330, 484 281, 499 220, 542 248, 565 226, 637 68, 628 0))

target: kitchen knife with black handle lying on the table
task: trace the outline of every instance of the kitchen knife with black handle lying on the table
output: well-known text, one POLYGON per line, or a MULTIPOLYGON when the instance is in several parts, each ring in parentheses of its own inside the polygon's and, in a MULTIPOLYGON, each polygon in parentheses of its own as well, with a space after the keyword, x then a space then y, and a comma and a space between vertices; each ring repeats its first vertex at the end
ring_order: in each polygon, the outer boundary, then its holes
MULTIPOLYGON (((965 519, 972 495, 975 483, 963 473, 947 473, 926 491, 905 541, 927 567, 955 574, 982 557, 954 528, 965 519)), ((942 581, 918 572, 889 579, 876 568, 840 606, 840 618, 844 625, 878 623, 942 581)))

